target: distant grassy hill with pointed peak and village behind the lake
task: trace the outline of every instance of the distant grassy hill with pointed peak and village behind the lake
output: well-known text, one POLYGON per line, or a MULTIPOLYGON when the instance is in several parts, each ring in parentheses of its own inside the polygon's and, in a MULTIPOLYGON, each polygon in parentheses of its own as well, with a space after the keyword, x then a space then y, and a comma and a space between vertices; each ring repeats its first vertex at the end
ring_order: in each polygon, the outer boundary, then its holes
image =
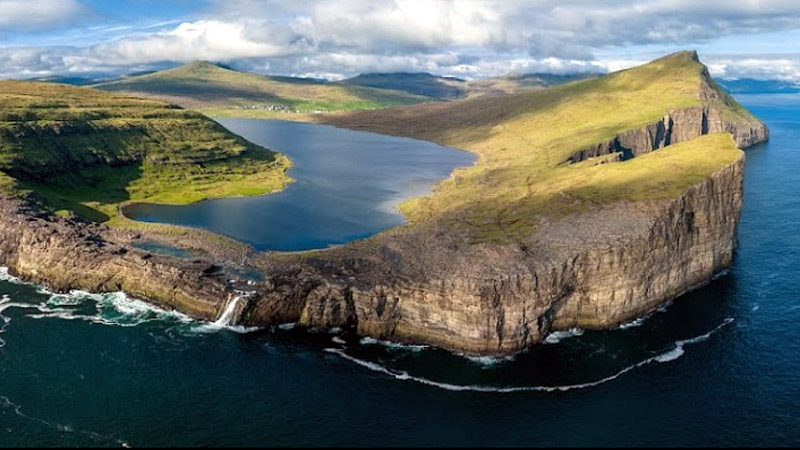
POLYGON ((377 109, 430 100, 405 92, 313 79, 266 77, 208 62, 127 77, 95 87, 155 97, 209 115, 239 117, 377 109))

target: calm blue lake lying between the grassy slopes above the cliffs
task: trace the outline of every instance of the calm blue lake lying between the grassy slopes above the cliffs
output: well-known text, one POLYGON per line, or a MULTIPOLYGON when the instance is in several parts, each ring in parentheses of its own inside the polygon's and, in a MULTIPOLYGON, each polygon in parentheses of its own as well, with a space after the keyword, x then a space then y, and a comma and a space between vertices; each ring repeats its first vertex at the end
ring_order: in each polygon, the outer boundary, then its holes
POLYGON ((404 222, 397 205, 430 192, 475 156, 430 142, 281 120, 219 119, 251 142, 292 159, 285 190, 191 205, 137 204, 125 215, 204 228, 259 250, 325 248, 404 222))

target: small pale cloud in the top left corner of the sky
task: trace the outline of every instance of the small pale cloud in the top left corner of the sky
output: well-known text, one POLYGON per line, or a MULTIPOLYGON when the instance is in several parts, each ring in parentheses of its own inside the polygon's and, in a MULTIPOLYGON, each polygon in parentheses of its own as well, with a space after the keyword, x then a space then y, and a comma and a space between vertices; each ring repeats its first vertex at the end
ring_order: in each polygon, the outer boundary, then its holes
POLYGON ((0 31, 28 31, 63 25, 83 11, 77 0, 0 0, 0 31))

